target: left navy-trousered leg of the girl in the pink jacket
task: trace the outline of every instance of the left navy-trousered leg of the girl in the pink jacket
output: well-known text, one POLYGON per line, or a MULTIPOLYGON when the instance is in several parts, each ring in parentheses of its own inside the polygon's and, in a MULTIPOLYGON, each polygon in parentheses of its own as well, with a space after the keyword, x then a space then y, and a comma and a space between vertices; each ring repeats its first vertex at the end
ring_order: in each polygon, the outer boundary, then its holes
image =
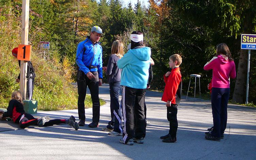
POLYGON ((221 112, 221 88, 211 90, 211 108, 214 128, 211 131, 213 137, 220 137, 220 112, 221 112))

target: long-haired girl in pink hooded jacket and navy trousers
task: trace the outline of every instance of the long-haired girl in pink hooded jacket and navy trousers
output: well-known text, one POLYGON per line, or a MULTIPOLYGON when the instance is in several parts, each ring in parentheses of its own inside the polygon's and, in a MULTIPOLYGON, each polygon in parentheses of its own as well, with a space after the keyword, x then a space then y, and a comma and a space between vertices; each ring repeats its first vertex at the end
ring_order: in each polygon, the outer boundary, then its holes
POLYGON ((211 107, 214 128, 205 133, 205 139, 220 141, 224 138, 227 125, 229 78, 236 78, 235 63, 225 43, 217 46, 217 56, 204 65, 204 70, 210 69, 212 69, 211 107))

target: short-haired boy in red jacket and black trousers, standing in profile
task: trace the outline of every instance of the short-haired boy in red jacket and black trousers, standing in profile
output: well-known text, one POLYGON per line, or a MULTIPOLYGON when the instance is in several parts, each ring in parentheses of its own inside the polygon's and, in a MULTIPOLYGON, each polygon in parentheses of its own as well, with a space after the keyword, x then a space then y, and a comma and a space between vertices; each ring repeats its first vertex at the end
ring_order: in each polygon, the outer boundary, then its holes
POLYGON ((169 60, 168 64, 172 70, 164 75, 166 85, 162 101, 166 102, 167 119, 170 122, 170 129, 169 134, 161 136, 160 138, 163 139, 163 142, 176 143, 176 133, 178 129, 177 106, 180 105, 182 91, 182 78, 179 66, 182 63, 182 58, 180 55, 174 54, 169 60))

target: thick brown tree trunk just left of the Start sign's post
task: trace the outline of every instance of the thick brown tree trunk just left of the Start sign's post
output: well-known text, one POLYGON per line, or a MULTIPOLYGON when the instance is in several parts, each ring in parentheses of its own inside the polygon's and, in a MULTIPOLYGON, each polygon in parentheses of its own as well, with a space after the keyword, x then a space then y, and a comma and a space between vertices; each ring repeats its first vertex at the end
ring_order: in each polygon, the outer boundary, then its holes
POLYGON ((241 49, 240 50, 240 58, 238 63, 237 69, 237 78, 235 84, 235 90, 233 94, 233 102, 236 103, 244 103, 245 98, 245 88, 246 88, 246 75, 247 75, 247 61, 248 61, 248 54, 247 50, 241 49))

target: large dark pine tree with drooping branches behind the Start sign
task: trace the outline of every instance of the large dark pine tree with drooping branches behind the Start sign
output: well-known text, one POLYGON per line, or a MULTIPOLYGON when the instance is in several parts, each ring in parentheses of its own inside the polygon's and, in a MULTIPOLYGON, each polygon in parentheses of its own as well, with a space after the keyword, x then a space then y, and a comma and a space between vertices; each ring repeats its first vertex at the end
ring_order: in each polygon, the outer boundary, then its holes
POLYGON ((245 98, 247 53, 240 49, 240 34, 256 32, 254 0, 179 1, 169 0, 177 6, 183 18, 201 25, 208 31, 212 45, 225 42, 233 56, 240 57, 233 101, 243 103, 245 98), (253 15, 253 16, 252 16, 253 15), (238 55, 240 53, 240 56, 238 55))

